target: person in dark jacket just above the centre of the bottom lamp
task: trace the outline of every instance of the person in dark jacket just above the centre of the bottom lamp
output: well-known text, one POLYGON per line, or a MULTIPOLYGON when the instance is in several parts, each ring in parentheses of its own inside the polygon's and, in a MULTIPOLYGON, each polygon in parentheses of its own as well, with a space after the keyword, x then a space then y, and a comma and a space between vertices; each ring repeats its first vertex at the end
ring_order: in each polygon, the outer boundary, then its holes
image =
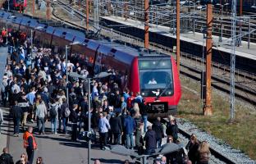
POLYGON ((148 126, 148 131, 144 136, 144 141, 146 142, 146 155, 150 155, 155 152, 157 148, 157 139, 156 139, 156 132, 152 130, 152 126, 148 126))

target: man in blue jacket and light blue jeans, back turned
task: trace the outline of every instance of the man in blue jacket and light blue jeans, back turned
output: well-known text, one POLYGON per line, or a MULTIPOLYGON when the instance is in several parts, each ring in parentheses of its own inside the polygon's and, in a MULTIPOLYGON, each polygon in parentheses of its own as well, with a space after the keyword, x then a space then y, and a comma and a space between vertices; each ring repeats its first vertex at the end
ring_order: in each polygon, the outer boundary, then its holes
POLYGON ((133 139, 133 133, 135 132, 135 120, 130 116, 130 112, 127 112, 127 116, 125 118, 125 125, 124 128, 126 130, 126 147, 133 149, 134 139, 133 139))

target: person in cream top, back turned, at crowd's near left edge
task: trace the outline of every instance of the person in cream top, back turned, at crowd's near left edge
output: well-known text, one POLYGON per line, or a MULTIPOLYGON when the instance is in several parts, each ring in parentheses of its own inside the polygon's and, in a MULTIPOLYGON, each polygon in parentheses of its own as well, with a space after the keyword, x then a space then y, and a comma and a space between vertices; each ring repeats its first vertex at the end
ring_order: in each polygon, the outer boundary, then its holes
POLYGON ((39 99, 39 104, 36 106, 35 110, 35 119, 38 122, 38 128, 39 128, 39 134, 45 134, 44 133, 44 119, 45 116, 47 115, 47 109, 45 104, 43 103, 42 99, 39 99))

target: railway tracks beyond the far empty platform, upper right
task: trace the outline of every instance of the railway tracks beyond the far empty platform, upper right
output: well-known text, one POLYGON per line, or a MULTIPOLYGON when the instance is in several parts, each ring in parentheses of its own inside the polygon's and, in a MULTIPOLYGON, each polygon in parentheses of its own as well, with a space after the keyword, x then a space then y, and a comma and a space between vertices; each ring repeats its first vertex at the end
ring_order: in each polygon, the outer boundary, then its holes
MULTIPOLYGON (((100 3, 100 8, 102 8, 101 15, 106 15, 106 12, 104 11, 104 4, 107 2, 100 3)), ((144 6, 137 2, 135 7, 135 2, 127 2, 127 11, 125 11, 125 3, 117 3, 113 7, 111 7, 107 13, 110 13, 115 16, 124 16, 126 15, 127 18, 138 20, 138 21, 144 21, 144 6), (137 11, 135 13, 135 11, 137 11), (130 15, 130 12, 134 12, 134 14, 130 15)), ((85 9, 85 0, 80 1, 81 7, 85 9)), ((106 7, 105 7, 106 8, 106 7)), ((152 12, 152 14, 149 14, 149 23, 150 24, 158 24, 163 25, 172 28, 172 30, 175 29, 175 20, 176 20, 176 13, 174 9, 171 7, 156 7, 152 6, 149 7, 149 11, 152 12), (157 14, 157 12, 159 14, 157 14), (171 22, 172 20, 172 22, 171 22)), ((107 10, 107 9, 106 9, 107 10)), ((213 8, 213 11, 215 13, 219 13, 218 8, 213 8)), ((206 29, 206 18, 205 18, 205 11, 199 11, 193 8, 185 7, 185 9, 181 9, 181 32, 188 32, 193 31, 193 25, 194 25, 194 31, 202 33, 203 30, 206 29), (194 15, 190 15, 188 13, 195 10, 194 15)), ((255 15, 255 13, 251 12, 245 12, 245 16, 251 16, 255 15)), ((245 20, 245 23, 242 25, 241 28, 241 34, 244 34, 242 36, 242 40, 248 41, 249 30, 256 29, 256 18, 251 18, 245 20), (250 25, 249 25, 250 22, 250 25)), ((236 30, 240 31, 240 26, 237 24, 236 30)), ((231 17, 226 15, 219 14, 213 14, 213 35, 231 38, 231 17), (221 30, 222 27, 222 30, 221 30)), ((256 43, 256 31, 252 32, 250 34, 250 42, 256 43)))

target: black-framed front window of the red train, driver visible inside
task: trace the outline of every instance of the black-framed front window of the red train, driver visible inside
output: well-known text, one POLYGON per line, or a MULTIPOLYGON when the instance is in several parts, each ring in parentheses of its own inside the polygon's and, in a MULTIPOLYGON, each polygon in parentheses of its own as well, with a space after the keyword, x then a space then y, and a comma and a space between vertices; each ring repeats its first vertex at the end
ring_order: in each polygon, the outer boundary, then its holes
POLYGON ((140 59, 139 86, 143 96, 171 96, 173 94, 173 79, 171 59, 140 59))

